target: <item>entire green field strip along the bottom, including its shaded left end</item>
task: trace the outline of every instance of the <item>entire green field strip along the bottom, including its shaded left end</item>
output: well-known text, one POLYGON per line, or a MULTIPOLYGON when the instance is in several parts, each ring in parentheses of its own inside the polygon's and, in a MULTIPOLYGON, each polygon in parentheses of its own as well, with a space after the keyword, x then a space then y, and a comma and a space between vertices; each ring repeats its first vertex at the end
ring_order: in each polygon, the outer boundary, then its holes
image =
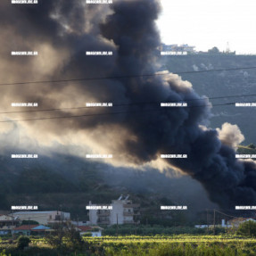
POLYGON ((4 244, 0 256, 77 255, 77 256, 241 256, 256 255, 256 239, 238 235, 155 235, 84 237, 83 248, 53 248, 44 238, 33 238, 25 251, 15 251, 4 244), (2 252, 2 254, 1 254, 2 252))

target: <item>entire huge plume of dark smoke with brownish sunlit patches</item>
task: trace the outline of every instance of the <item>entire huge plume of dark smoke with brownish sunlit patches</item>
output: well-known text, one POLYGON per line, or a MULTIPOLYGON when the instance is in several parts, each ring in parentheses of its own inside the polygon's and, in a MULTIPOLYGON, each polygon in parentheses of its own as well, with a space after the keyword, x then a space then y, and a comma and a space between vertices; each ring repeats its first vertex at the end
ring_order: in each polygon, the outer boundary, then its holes
MULTIPOLYGON (((120 0, 110 6, 85 5, 83 2, 44 0, 38 6, 16 9, 1 2, 0 19, 8 28, 4 33, 15 38, 16 47, 39 47, 41 54, 52 56, 40 62, 22 58, 21 63, 27 62, 28 69, 35 64, 40 69, 33 68, 30 76, 28 72, 27 75, 18 72, 12 78, 6 76, 2 80, 118 77, 151 74, 159 70, 156 56, 161 40, 155 26, 161 11, 159 1, 120 0), (12 24, 11 12, 21 18, 18 23, 12 24), (113 51, 113 57, 88 57, 87 51, 113 51), (47 70, 50 63, 52 68, 47 70)), ((12 47, 3 44, 11 50, 12 47)), ((11 57, 6 57, 3 62, 12 69, 21 68, 21 63, 17 65, 11 57)), ((3 67, 1 70, 11 73, 3 67)), ((256 165, 252 161, 236 161, 231 147, 235 143, 222 143, 218 130, 202 126, 209 118, 210 108, 206 106, 209 102, 177 75, 166 73, 62 86, 49 84, 37 87, 37 91, 29 86, 19 94, 11 87, 5 93, 4 103, 17 97, 26 100, 28 95, 29 98, 36 95, 43 108, 84 105, 85 101, 127 103, 122 108, 107 110, 126 111, 120 115, 33 123, 29 135, 33 136, 37 130, 41 132, 42 141, 49 136, 63 141, 67 134, 79 132, 84 136, 79 140, 81 144, 86 144, 85 137, 92 136, 95 145, 100 144, 123 162, 137 165, 157 160, 161 153, 187 154, 188 159, 168 160, 169 166, 177 167, 200 181, 213 202, 228 207, 252 204, 256 198, 256 165), (177 101, 187 101, 189 107, 163 110, 159 104, 153 104, 177 101), (204 107, 197 107, 203 104, 204 107)), ((74 113, 60 111, 59 115, 74 113)), ((228 136, 228 128, 225 133, 226 140, 232 137, 228 136)))

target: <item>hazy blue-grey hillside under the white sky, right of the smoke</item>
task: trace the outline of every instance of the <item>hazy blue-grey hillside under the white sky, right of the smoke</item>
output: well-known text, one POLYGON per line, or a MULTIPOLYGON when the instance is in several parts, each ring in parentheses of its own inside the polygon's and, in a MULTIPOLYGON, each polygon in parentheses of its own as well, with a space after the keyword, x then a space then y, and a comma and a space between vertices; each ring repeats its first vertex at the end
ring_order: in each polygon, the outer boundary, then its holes
MULTIPOLYGON (((173 73, 200 70, 223 70, 244 67, 255 67, 256 55, 186 55, 162 58, 162 69, 173 73)), ((237 124, 245 136, 244 144, 256 143, 254 124, 256 108, 235 107, 223 103, 256 102, 256 72, 251 70, 227 70, 182 74, 183 79, 193 84, 199 95, 222 97, 238 95, 232 98, 211 99, 213 104, 210 126, 220 128, 224 122, 237 124), (242 97, 241 95, 252 95, 242 97), (222 104, 214 106, 216 104, 222 104)))

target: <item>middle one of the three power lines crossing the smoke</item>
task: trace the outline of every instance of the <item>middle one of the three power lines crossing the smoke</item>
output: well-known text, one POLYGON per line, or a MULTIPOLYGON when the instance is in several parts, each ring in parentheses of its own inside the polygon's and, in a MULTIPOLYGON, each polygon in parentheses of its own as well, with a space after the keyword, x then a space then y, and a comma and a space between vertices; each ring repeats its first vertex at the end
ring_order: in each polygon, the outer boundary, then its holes
MULTIPOLYGON (((207 97, 209 100, 215 100, 215 99, 223 99, 223 98, 237 98, 237 97, 252 97, 256 96, 256 94, 253 95, 227 95, 227 96, 215 96, 215 97, 207 97)), ((204 101, 205 98, 200 99, 186 99, 184 101, 180 100, 174 100, 171 101, 172 103, 179 103, 179 102, 191 102, 191 101, 204 101)), ((161 102, 142 102, 142 103, 120 103, 120 104, 114 104, 112 107, 120 107, 120 106, 128 106, 128 105, 140 105, 140 104, 158 104, 161 102)), ((62 110, 78 110, 78 109, 93 109, 95 107, 90 106, 80 106, 80 107, 70 107, 70 108, 57 108, 57 109, 45 109, 45 110, 33 110, 33 111, 5 111, 0 112, 0 114, 10 114, 10 113, 26 113, 26 112, 41 112, 41 111, 62 111, 62 110)))

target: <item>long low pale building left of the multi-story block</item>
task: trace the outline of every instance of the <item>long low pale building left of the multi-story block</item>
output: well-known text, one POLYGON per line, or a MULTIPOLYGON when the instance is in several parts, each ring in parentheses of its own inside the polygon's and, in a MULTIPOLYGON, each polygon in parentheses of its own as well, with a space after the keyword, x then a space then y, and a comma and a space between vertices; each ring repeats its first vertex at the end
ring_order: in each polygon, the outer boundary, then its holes
POLYGON ((40 225, 54 224, 70 220, 70 212, 63 211, 19 211, 11 214, 13 218, 34 220, 40 225))

